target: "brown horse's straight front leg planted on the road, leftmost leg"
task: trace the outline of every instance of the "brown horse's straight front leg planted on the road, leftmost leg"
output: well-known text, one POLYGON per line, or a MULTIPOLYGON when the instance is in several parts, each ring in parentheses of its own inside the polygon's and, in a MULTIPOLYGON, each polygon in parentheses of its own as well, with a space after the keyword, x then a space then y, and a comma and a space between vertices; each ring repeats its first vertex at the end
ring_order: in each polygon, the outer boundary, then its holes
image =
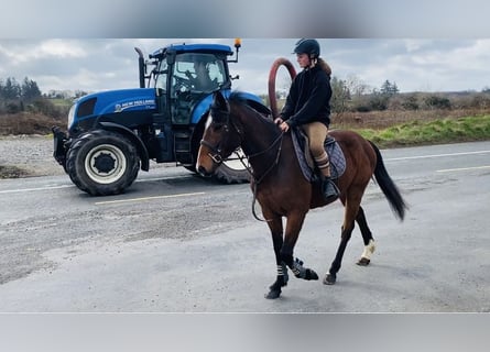
POLYGON ((281 249, 283 246, 283 226, 282 218, 272 213, 265 215, 268 219, 268 224, 272 234, 272 244, 274 246, 275 263, 277 265, 277 276, 275 282, 269 287, 269 293, 265 294, 265 298, 275 299, 281 295, 281 287, 287 285, 288 275, 287 266, 281 260, 281 249))

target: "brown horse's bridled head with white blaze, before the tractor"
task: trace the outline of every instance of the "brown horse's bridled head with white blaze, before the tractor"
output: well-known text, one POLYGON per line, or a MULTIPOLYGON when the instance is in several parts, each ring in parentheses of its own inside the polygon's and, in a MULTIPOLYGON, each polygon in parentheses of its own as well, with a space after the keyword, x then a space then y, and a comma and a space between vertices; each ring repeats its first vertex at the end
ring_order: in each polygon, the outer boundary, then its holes
POLYGON ((213 99, 208 121, 197 154, 196 169, 210 176, 241 143, 237 127, 230 122, 230 105, 220 91, 213 99))

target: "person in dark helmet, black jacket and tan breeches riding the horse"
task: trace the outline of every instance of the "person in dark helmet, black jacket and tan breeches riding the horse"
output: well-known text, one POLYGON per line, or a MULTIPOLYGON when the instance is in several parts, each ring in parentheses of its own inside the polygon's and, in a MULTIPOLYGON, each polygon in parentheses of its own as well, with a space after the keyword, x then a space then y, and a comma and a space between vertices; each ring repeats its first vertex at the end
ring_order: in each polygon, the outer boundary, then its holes
POLYGON ((338 189, 330 178, 330 162, 324 142, 330 124, 330 75, 328 64, 319 57, 319 44, 302 38, 294 47, 303 70, 294 78, 286 103, 274 120, 283 132, 301 127, 308 136, 309 151, 322 173, 322 190, 326 199, 336 199, 338 189))

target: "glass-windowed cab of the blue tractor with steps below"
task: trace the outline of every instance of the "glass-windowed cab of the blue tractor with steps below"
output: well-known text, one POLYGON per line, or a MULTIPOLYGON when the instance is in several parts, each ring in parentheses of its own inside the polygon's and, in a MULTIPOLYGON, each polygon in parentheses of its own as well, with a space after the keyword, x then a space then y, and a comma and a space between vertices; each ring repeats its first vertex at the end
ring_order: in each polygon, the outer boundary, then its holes
MULTIPOLYGON (((176 162, 190 168, 204 131, 203 117, 209 110, 213 92, 231 89, 228 63, 238 61, 240 41, 233 51, 220 44, 178 44, 149 55, 140 54, 140 87, 154 88, 157 113, 153 117, 156 131, 156 160, 176 162), (172 135, 172 139, 167 136, 172 135)), ((236 77, 237 78, 237 77, 236 77)), ((150 151, 151 152, 151 151, 150 151)))

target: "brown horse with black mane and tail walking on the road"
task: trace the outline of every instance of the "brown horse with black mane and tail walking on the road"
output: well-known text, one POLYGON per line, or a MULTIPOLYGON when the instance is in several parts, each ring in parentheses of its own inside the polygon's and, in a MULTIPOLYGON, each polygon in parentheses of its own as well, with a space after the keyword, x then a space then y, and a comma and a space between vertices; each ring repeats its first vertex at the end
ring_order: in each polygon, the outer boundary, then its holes
MULTIPOLYGON (((324 284, 333 285, 355 221, 359 224, 364 242, 364 252, 358 264, 368 265, 370 254, 374 251, 373 238, 360 206, 371 177, 375 177, 392 210, 401 220, 406 206, 373 143, 351 131, 331 131, 329 135, 335 138, 346 157, 346 170, 337 180, 339 199, 345 207, 341 240, 324 278, 324 284)), ((272 119, 253 109, 239 92, 232 92, 228 99, 217 92, 198 153, 198 172, 210 176, 222 160, 238 147, 242 148, 250 163, 254 199, 257 197, 272 233, 277 276, 265 297, 277 298, 281 287, 287 284, 287 267, 296 277, 318 279, 313 270, 293 257, 293 250, 306 213, 309 209, 326 206, 327 201, 323 198, 319 185, 303 176, 290 133, 282 133, 272 119), (284 237, 283 217, 286 218, 284 237)))

